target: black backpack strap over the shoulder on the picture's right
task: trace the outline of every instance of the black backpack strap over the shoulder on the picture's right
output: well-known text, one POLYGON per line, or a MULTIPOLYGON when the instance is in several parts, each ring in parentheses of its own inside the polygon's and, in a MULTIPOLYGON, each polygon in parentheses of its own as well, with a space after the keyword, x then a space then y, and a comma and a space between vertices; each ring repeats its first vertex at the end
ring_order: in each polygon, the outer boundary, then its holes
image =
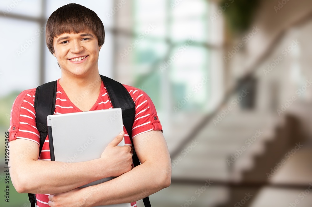
MULTIPOLYGON (((110 97, 110 101, 112 102, 113 108, 121 108, 122 121, 123 121, 124 127, 127 130, 127 133, 129 135, 129 138, 133 146, 132 159, 133 159, 134 167, 136 167, 140 164, 140 161, 139 161, 137 154, 135 153, 134 144, 132 140, 132 126, 133 126, 134 116, 135 116, 134 101, 132 100, 129 92, 121 83, 111 78, 108 78, 106 76, 102 76, 102 75, 100 76, 106 87, 106 90, 110 97)), ((144 198, 143 202, 144 202, 145 207, 151 206, 149 202, 149 197, 144 198)))

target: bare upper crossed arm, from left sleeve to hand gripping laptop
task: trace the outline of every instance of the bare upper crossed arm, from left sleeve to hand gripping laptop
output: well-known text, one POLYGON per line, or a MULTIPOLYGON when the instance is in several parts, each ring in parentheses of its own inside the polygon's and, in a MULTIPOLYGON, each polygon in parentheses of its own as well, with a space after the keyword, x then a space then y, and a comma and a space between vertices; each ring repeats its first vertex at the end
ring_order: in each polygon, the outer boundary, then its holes
POLYGON ((38 160, 37 143, 25 139, 12 140, 9 145, 13 186, 19 193, 59 193, 128 172, 132 163, 131 147, 117 146, 123 136, 124 132, 119 134, 100 159, 80 163, 38 160))

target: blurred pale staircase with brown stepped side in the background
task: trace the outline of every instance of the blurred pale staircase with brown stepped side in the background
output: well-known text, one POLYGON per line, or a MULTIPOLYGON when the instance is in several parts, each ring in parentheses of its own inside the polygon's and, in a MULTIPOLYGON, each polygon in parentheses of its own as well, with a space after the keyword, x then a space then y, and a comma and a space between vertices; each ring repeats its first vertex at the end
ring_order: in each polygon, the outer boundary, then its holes
POLYGON ((301 141, 294 117, 270 114, 237 107, 217 125, 209 122, 171 158, 172 184, 150 196, 153 206, 230 207, 248 194, 251 198, 243 202, 249 206, 269 181, 266 173, 301 141), (207 181, 212 182, 209 187, 207 181))

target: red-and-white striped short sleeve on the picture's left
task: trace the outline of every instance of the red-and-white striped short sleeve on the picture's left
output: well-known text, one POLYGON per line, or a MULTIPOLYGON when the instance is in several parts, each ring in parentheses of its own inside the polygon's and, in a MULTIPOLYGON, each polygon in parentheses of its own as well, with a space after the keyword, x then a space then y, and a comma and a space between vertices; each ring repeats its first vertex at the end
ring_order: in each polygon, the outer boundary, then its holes
POLYGON ((36 127, 35 115, 36 89, 25 90, 15 99, 9 127, 9 141, 25 139, 40 143, 40 134, 36 127))

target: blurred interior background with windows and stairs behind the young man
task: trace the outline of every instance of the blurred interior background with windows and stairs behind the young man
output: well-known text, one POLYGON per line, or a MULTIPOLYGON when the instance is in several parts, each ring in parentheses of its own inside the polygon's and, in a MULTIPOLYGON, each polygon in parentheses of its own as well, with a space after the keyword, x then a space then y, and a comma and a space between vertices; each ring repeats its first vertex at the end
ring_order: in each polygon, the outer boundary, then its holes
POLYGON ((11 183, 4 202, 4 133, 22 90, 60 78, 45 25, 71 2, 103 21, 100 73, 158 111, 172 182, 152 206, 311 206, 309 0, 2 0, 1 206, 30 206, 11 183))

